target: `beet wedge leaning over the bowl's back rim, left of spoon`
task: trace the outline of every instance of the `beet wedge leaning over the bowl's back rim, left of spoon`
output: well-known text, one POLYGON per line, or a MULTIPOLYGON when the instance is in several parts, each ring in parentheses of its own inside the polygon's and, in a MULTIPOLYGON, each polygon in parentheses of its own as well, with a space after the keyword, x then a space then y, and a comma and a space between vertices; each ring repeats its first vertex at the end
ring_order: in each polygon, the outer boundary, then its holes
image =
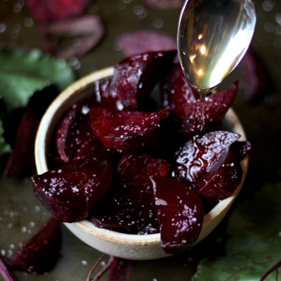
POLYGON ((111 95, 118 95, 125 108, 136 109, 149 98, 156 83, 171 67, 176 51, 149 52, 120 61, 114 67, 111 95))

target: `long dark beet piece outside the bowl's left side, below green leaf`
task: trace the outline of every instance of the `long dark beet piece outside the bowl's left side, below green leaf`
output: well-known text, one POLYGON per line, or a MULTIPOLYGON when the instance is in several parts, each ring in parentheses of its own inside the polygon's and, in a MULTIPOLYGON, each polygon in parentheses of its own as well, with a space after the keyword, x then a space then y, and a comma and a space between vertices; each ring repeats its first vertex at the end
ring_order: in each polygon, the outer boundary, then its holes
POLYGON ((35 169, 34 144, 37 129, 42 115, 57 95, 57 88, 49 86, 35 92, 30 99, 21 117, 13 151, 4 170, 6 177, 24 176, 35 169))

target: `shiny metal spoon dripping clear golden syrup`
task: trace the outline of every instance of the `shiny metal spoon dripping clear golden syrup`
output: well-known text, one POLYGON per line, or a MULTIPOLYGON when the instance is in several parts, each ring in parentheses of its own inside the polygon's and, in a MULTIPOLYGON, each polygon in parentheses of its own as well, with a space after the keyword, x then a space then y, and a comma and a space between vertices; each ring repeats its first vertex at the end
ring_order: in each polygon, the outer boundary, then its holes
POLYGON ((178 25, 183 72, 201 99, 236 68, 256 22, 251 0, 187 0, 178 25))

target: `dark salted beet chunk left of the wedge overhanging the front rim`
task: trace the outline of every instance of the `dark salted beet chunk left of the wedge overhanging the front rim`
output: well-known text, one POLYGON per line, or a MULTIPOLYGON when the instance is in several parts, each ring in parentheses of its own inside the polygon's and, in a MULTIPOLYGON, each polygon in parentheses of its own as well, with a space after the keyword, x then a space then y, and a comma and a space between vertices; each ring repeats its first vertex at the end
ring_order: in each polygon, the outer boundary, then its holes
POLYGON ((116 190, 109 201, 92 216, 98 227, 123 233, 150 234, 159 232, 152 175, 166 176, 170 163, 148 155, 124 156, 116 170, 116 190), (110 206, 108 208, 107 206, 110 206))

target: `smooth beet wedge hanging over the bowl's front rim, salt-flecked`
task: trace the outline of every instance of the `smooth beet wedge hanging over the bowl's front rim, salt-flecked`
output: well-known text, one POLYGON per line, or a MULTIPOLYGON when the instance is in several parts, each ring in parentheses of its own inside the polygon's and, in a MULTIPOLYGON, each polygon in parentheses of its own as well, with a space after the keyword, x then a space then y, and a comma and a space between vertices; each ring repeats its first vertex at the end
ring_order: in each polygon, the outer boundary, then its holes
POLYGON ((179 253, 197 240, 204 209, 199 197, 188 186, 162 176, 151 178, 160 223, 161 247, 166 253, 179 253))

